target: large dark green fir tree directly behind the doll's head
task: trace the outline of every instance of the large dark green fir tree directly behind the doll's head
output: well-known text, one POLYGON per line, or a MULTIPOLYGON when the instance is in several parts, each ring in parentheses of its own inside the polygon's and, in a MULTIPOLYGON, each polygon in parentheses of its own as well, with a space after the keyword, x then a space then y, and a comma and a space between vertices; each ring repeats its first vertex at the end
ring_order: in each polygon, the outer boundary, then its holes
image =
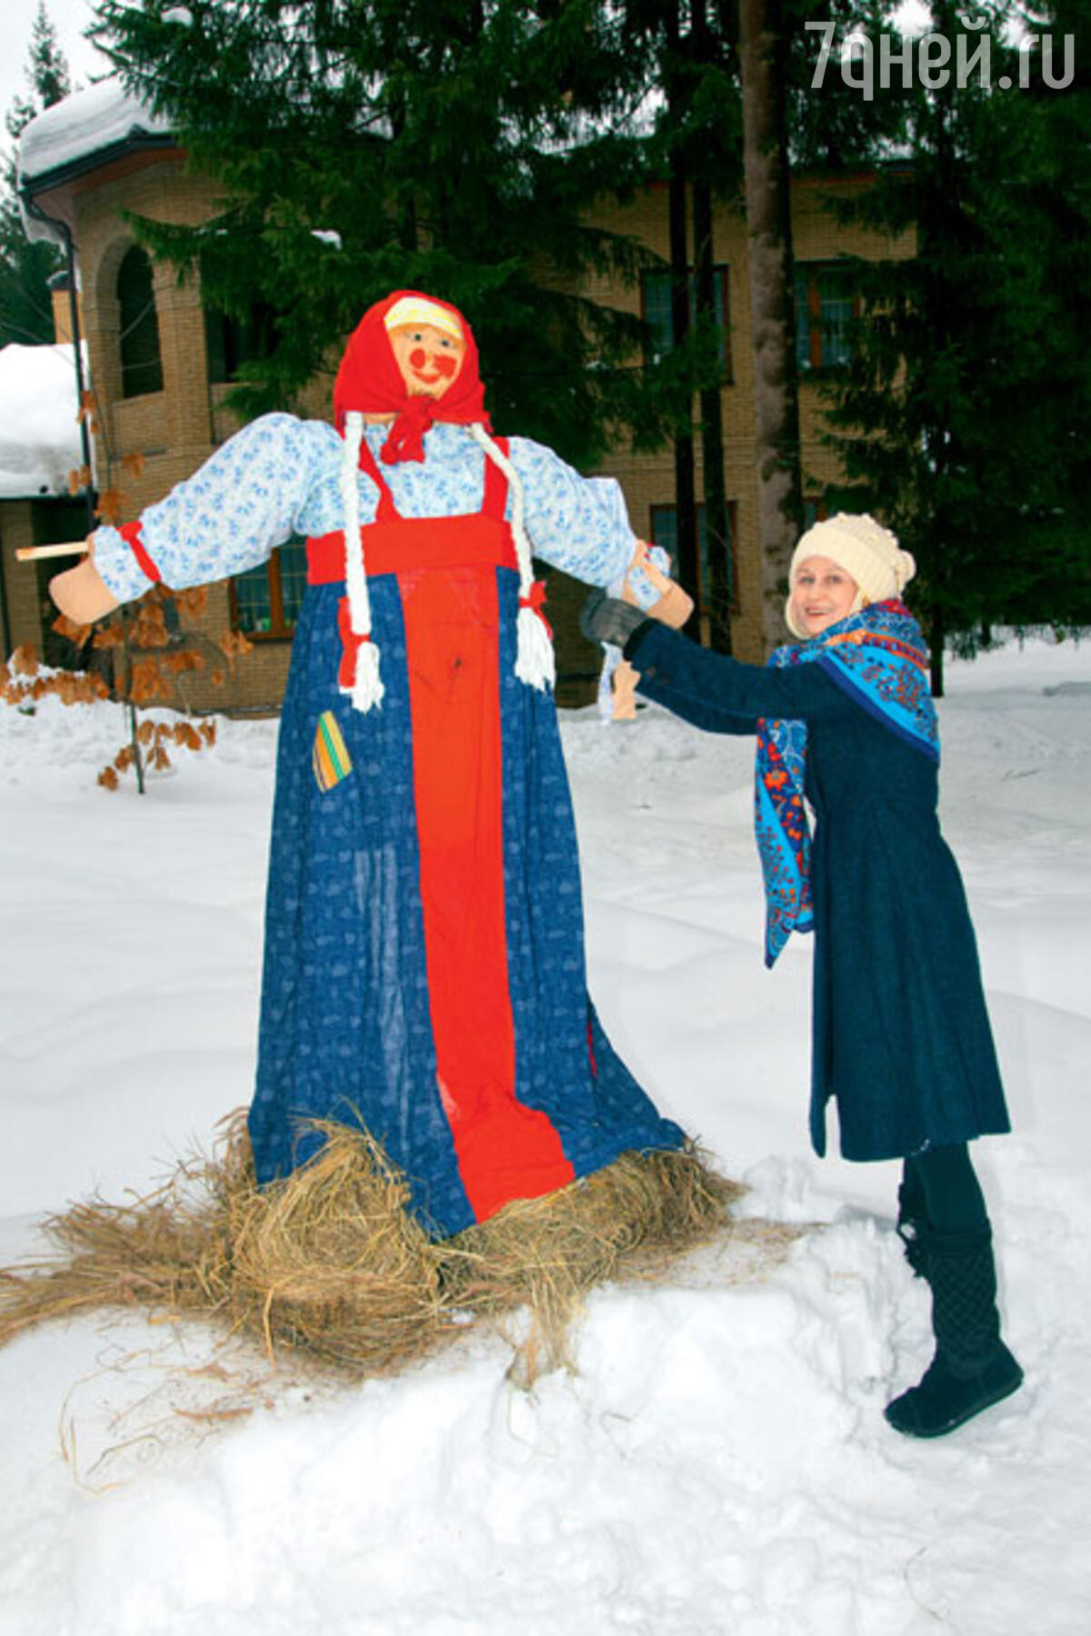
POLYGON ((646 173, 644 85, 597 0, 103 0, 97 38, 165 113, 222 208, 139 224, 206 304, 262 314, 236 407, 286 406, 391 288, 468 309, 497 427, 582 466, 618 427, 664 432, 640 319, 577 296, 640 247, 582 219, 646 173))

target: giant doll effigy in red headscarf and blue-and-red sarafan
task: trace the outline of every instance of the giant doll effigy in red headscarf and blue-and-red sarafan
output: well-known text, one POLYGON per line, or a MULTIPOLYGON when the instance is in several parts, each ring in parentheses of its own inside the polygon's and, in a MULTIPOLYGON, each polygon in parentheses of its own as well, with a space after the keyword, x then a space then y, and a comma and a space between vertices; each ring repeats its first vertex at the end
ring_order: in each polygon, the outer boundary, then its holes
MULTIPOLYGON (((587 998, 576 836, 530 540, 620 586, 602 481, 492 438, 463 316, 399 290, 342 360, 335 425, 255 420, 54 581, 98 618, 162 578, 308 537, 285 697, 250 1139, 260 1181, 361 1124, 435 1237, 626 1150, 677 1148, 587 998)), ((640 569, 641 602, 659 592, 640 569)))

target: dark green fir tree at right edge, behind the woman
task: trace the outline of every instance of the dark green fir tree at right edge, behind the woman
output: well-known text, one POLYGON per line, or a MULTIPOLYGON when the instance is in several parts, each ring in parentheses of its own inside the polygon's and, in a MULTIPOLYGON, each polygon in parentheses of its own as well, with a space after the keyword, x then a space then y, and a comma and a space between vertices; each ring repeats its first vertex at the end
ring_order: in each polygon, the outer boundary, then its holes
MULTIPOLYGON (((936 16, 954 62, 962 18, 945 3, 936 16)), ((937 694, 950 640, 973 651, 994 625, 1091 612, 1086 93, 1019 90, 1004 20, 994 7, 993 85, 952 74, 906 93, 906 160, 851 211, 914 227, 918 245, 855 263, 864 321, 828 416, 849 479, 831 499, 878 510, 918 561, 937 694)))

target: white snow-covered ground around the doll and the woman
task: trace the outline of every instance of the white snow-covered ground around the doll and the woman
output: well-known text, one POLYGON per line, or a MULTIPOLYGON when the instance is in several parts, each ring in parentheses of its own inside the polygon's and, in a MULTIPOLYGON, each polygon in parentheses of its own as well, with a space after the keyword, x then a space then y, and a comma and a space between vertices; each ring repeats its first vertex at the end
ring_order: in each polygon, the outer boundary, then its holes
MULTIPOLYGON (((1091 1618, 1091 664, 954 664, 944 823, 1016 1134, 980 1144, 1027 1386, 882 1418, 929 1356, 893 1165, 805 1142, 810 951, 761 962, 748 741, 569 718, 592 988, 664 1111, 813 1222, 604 1289, 577 1373, 478 1338, 317 1384, 100 1314, 0 1351, 3 1636, 1073 1636, 1091 1618)), ((0 1260, 146 1189, 247 1101, 272 723, 108 795, 113 707, 0 707, 0 1260)))

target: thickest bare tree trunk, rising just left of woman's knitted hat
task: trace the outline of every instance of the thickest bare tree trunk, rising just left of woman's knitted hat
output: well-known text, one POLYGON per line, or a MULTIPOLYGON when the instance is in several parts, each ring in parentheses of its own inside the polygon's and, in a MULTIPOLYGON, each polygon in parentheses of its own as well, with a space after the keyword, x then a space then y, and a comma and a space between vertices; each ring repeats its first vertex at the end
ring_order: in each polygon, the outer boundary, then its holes
POLYGON ((761 630, 765 653, 785 640, 783 594, 803 519, 783 51, 779 0, 739 0, 761 630))

